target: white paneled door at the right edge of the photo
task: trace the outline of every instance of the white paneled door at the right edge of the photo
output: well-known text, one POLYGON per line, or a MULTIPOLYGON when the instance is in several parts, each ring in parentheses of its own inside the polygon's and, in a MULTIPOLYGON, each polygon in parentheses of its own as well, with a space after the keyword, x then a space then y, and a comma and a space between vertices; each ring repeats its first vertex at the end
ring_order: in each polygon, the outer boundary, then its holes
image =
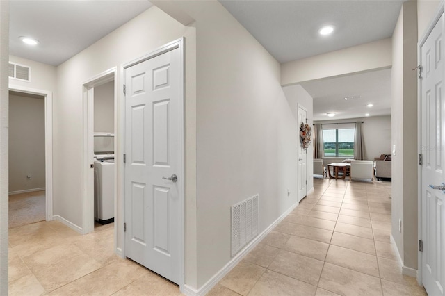
POLYGON ((442 14, 421 46, 421 273, 428 295, 435 296, 444 295, 445 288, 445 194, 430 187, 445 182, 443 34, 442 14))

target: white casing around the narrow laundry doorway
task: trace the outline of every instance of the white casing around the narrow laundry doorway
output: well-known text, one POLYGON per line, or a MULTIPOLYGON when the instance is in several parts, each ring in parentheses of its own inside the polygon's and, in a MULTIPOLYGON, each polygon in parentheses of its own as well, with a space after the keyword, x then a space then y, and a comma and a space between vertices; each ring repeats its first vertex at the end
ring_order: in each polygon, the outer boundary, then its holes
MULTIPOLYGON (((82 180, 83 180, 83 190, 82 190, 82 208, 83 208, 83 217, 82 217, 82 234, 92 233, 95 229, 94 222, 94 169, 90 167, 93 163, 94 157, 94 88, 102 85, 104 83, 108 83, 110 81, 115 81, 114 85, 114 113, 116 115, 116 106, 117 102, 117 73, 118 70, 116 67, 112 69, 108 69, 101 74, 98 74, 88 81, 82 83, 83 89, 83 170, 82 170, 82 180)), ((115 117, 116 118, 116 117, 115 117)), ((116 120, 114 124, 114 129, 116 130, 116 120)), ((114 137, 114 145, 117 147, 116 143, 118 142, 118 136, 114 137)), ((115 166, 115 180, 117 179, 117 169, 115 166)), ((115 182, 115 184, 117 184, 115 182)), ((115 222, 118 222, 117 206, 117 189, 116 185, 114 187, 114 203, 115 203, 115 222)), ((115 234, 116 237, 116 225, 115 223, 115 234)), ((117 248, 117 240, 115 241, 115 249, 117 248)))

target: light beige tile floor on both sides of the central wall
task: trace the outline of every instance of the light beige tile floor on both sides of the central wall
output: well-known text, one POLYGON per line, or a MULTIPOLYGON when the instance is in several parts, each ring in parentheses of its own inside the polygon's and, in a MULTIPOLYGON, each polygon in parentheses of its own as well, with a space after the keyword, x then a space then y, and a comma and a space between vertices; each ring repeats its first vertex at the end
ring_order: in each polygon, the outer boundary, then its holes
MULTIPOLYGON (((314 179, 314 192, 208 295, 426 295, 398 268, 390 192, 389 182, 314 179)), ((80 236, 38 222, 10 229, 9 246, 9 295, 180 295, 113 254, 113 224, 80 236)))

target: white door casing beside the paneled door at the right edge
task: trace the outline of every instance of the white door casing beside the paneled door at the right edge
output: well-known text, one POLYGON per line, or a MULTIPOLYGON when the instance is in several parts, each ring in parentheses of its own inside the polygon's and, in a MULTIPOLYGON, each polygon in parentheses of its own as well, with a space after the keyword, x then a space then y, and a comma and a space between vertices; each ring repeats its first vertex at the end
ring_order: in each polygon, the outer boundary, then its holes
MULTIPOLYGON (((444 12, 445 12, 445 2, 442 0, 439 4, 439 7, 437 8, 435 17, 431 19, 430 24, 426 28, 426 31, 423 33, 422 38, 420 39, 420 41, 417 44, 418 65, 421 65, 421 62, 422 62, 421 47, 423 46, 423 44, 425 44, 426 40, 428 39, 428 36, 432 32, 432 29, 435 28, 435 25, 437 24, 437 22, 439 21, 440 17, 442 16, 442 14, 444 12)), ((442 60, 442 63, 444 63, 444 60, 442 60)), ((444 73, 444 76, 445 76, 445 73, 444 73)), ((418 81, 417 81, 417 130, 419 132, 417 133, 417 142, 419 142, 419 147, 418 147, 419 155, 423 154, 422 153, 423 147, 421 147, 421 145, 422 145, 422 138, 421 138, 422 87, 421 86, 422 86, 422 81, 421 81, 421 79, 418 79, 418 81)), ((421 165, 419 165, 418 170, 417 170, 417 182, 418 182, 418 186, 417 186, 418 187, 418 193, 417 193, 418 238, 419 238, 419 240, 422 240, 422 238, 423 238, 423 233, 422 233, 422 193, 423 193, 423 188, 422 188, 422 167, 421 167, 421 165)), ((405 274, 405 272, 403 272, 403 273, 405 274)), ((417 253, 417 282, 419 283, 420 286, 423 285, 422 276, 423 276, 423 274, 422 274, 422 253, 419 251, 417 253)))

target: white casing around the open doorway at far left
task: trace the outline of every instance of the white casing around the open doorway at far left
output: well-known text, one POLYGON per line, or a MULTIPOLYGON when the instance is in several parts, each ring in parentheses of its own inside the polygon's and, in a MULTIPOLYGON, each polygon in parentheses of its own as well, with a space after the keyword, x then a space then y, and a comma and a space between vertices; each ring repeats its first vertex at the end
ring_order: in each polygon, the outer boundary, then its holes
POLYGON ((53 220, 53 93, 48 90, 26 88, 9 84, 9 90, 44 97, 44 153, 45 153, 45 206, 46 220, 53 220))

